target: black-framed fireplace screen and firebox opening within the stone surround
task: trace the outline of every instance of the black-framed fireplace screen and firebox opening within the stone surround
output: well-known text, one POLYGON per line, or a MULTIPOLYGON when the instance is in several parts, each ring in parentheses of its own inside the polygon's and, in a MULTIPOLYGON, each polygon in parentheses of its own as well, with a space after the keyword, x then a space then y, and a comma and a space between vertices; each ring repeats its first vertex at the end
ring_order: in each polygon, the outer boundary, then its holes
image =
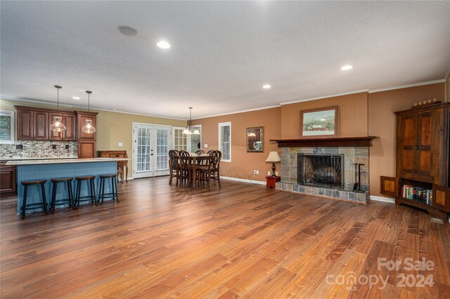
POLYGON ((343 188, 343 164, 343 154, 298 154, 298 183, 301 185, 343 188))

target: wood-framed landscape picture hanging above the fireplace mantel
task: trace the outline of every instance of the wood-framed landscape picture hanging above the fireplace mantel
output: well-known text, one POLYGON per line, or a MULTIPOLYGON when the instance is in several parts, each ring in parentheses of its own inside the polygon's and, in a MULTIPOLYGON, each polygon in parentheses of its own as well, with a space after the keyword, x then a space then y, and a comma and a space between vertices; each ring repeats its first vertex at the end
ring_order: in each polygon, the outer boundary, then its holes
POLYGON ((333 138, 338 132, 338 106, 300 111, 300 138, 333 138))

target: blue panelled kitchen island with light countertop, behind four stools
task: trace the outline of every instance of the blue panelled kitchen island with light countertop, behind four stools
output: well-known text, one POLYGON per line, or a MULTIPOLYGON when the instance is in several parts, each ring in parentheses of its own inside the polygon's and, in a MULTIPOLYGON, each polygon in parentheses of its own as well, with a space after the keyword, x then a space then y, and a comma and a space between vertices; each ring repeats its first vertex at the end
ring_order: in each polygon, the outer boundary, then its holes
MULTIPOLYGON (((72 189, 75 190, 75 177, 83 175, 96 175, 95 187, 96 196, 100 190, 98 175, 117 173, 117 161, 131 160, 127 158, 94 158, 94 159, 45 159, 45 160, 18 160, 8 161, 6 165, 17 167, 17 188, 18 205, 17 213, 20 213, 20 207, 23 202, 24 187, 20 182, 25 180, 47 180, 45 184, 47 203, 51 199, 51 179, 52 178, 74 178, 72 189)), ((109 181, 109 180, 108 180, 109 181)), ((82 196, 87 195, 88 188, 82 187, 82 196)), ((111 185, 105 183, 105 192, 111 192, 111 185)), ((58 185, 57 199, 67 198, 67 187, 65 184, 58 185), (64 185, 64 187, 63 187, 64 185)), ((74 194, 75 195, 75 194, 74 194)), ((39 188, 29 188, 27 204, 41 202, 39 188)), ((42 211, 41 208, 27 210, 27 213, 42 211)))

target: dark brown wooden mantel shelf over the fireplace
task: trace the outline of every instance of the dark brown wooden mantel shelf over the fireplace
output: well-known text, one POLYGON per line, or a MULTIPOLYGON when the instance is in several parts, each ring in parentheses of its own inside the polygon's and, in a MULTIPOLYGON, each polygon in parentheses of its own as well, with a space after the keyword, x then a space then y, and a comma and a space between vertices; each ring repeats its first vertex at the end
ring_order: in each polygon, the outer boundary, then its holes
POLYGON ((278 142, 278 147, 371 147, 377 136, 338 137, 338 138, 304 138, 271 139, 278 142))

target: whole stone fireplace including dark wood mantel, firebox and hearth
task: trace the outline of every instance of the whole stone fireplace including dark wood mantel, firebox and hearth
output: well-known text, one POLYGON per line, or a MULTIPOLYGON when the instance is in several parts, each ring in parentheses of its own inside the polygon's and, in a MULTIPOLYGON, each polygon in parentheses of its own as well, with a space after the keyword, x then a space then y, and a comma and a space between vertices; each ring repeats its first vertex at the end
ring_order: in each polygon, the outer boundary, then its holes
POLYGON ((274 140, 281 147, 281 182, 276 189, 365 204, 369 201, 368 158, 373 138, 274 140), (364 164, 363 192, 352 191, 357 178, 354 164, 364 164))

